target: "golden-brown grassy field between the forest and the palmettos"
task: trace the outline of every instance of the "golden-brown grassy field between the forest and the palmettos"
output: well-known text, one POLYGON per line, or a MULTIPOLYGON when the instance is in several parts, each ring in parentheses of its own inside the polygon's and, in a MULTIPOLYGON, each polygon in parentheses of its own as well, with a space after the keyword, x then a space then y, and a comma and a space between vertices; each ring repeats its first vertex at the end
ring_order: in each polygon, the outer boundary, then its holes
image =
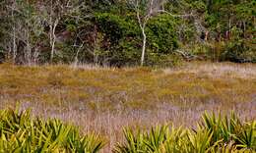
POLYGON ((108 152, 122 128, 171 123, 195 127, 201 114, 234 110, 256 118, 256 65, 186 63, 175 69, 22 67, 0 65, 0 108, 32 108, 107 138, 108 152))

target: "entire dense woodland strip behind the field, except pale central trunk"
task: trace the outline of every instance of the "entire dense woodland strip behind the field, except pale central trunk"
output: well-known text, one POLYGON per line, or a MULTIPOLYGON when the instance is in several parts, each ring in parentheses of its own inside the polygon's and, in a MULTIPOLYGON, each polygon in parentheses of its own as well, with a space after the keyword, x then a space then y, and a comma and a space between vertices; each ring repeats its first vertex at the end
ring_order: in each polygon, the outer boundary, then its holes
MULTIPOLYGON (((253 0, 138 0, 151 15, 146 64, 186 60, 255 62, 253 0), (172 16, 172 15, 185 16, 172 16), (187 15, 187 16, 186 16, 187 15)), ((138 65, 143 34, 136 0, 1 0, 0 61, 138 65)), ((143 17, 143 16, 142 16, 143 17)), ((143 18, 141 20, 143 20, 143 18)))

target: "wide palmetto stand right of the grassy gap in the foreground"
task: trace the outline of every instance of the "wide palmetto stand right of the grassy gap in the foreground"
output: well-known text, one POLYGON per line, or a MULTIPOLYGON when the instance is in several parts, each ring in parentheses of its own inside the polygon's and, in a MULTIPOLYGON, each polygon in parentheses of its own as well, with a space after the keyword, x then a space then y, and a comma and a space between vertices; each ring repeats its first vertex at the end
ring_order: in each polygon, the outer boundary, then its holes
POLYGON ((231 112, 217 117, 203 114, 197 129, 151 128, 150 131, 124 129, 125 142, 117 143, 115 153, 229 153, 256 151, 256 123, 242 123, 231 112))

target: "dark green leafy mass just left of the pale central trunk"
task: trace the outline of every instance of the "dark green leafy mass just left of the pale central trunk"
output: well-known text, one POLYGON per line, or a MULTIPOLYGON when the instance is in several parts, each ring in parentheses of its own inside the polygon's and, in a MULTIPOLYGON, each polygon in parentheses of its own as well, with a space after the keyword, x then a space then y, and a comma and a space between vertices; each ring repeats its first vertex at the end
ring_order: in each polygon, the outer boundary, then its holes
POLYGON ((136 46, 140 45, 140 29, 131 18, 111 13, 96 14, 97 35, 101 36, 99 52, 109 58, 110 65, 133 65, 139 59, 136 46))

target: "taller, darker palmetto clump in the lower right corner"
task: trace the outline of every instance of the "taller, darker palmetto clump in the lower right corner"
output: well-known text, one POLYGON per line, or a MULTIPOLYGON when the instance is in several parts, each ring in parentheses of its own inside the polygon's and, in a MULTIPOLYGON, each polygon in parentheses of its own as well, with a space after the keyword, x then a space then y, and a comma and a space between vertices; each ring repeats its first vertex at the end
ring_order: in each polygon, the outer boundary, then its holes
POLYGON ((202 116, 203 124, 201 128, 206 128, 213 132, 212 144, 223 140, 225 144, 234 141, 233 145, 238 148, 255 149, 256 147, 256 126, 255 121, 242 123, 234 112, 227 116, 216 118, 213 113, 210 116, 207 112, 202 116))

